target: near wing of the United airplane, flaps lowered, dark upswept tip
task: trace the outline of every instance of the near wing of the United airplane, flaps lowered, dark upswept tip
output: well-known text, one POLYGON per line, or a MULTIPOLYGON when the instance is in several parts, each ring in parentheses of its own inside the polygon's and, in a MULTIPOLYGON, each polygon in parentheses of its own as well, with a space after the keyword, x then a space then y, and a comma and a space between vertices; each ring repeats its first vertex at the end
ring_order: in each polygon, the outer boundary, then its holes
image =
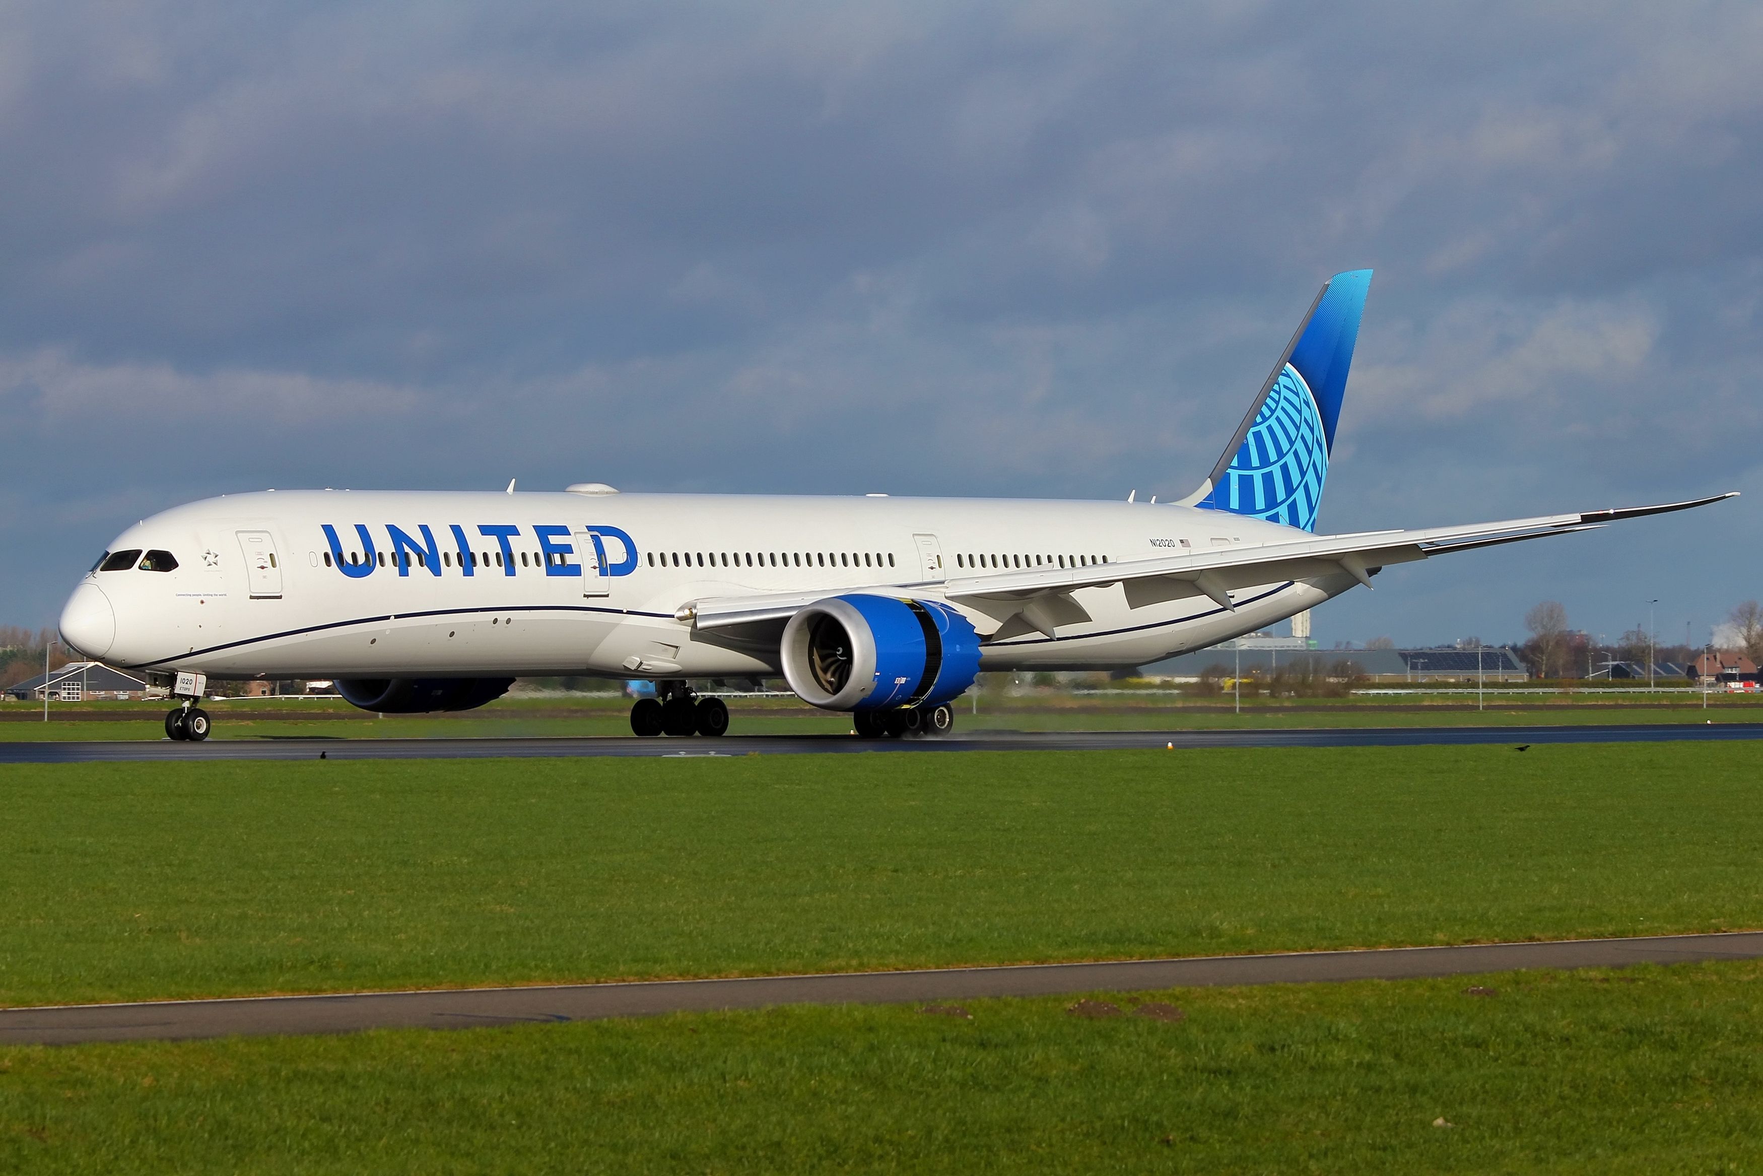
MULTIPOLYGON (((1091 619, 1084 607, 1072 598, 1072 592, 1079 589, 1120 584, 1132 608, 1144 608, 1146 605, 1188 596, 1206 596, 1224 608, 1234 608, 1231 601, 1234 589, 1255 587, 1275 580, 1338 575, 1342 571, 1370 587, 1372 573, 1387 564, 1403 564, 1446 552, 1465 552, 1499 543, 1541 540, 1551 534, 1596 531, 1624 518, 1666 515, 1730 497, 1737 497, 1737 492, 1661 506, 1507 518, 1458 527, 1306 536, 1289 543, 1215 547, 1179 555, 1091 564, 1084 568, 1000 571, 950 578, 936 585, 931 594, 998 621, 1000 628, 989 635, 994 640, 1035 629, 1051 636, 1061 624, 1082 624, 1091 619)), ((779 622, 793 615, 797 608, 822 599, 825 594, 795 592, 700 599, 682 607, 677 615, 681 621, 693 621, 700 629, 779 622)))

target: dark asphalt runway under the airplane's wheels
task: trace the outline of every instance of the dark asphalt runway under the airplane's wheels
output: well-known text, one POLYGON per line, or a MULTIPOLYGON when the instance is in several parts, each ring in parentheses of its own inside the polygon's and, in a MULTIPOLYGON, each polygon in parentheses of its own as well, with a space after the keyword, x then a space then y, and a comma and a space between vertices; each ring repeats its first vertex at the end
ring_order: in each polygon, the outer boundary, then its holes
POLYGON ((208 742, 0 742, 0 763, 150 760, 492 760, 578 756, 836 755, 859 751, 1128 751, 1192 748, 1437 748, 1479 744, 1728 742, 1763 739, 1763 723, 1604 723, 1576 726, 1312 726, 1186 732, 987 732, 943 739, 725 735, 636 739, 213 739, 208 742))

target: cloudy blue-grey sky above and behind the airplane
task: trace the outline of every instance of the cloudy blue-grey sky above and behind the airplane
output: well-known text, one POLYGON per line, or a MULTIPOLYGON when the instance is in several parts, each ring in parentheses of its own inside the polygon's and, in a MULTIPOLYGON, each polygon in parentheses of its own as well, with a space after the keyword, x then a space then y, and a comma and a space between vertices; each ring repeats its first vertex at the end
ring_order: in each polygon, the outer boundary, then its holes
POLYGON ((1317 636, 1763 596, 1754 4, 0 2, 0 622, 261 487, 1141 497, 1377 279, 1317 636))

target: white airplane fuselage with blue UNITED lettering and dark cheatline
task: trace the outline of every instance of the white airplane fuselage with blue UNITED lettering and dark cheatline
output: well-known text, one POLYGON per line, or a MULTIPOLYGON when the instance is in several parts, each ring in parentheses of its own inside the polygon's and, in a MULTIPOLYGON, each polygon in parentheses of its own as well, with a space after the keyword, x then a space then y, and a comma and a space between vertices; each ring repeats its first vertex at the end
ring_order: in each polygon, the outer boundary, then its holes
MULTIPOLYGON (((1294 536, 1308 538, 1144 502, 270 490, 129 527, 111 552, 164 550, 176 568, 93 569, 63 631, 118 666, 212 677, 756 675, 779 670, 776 649, 700 633, 682 607, 783 592, 941 599, 945 580, 994 568, 1294 536)), ((1090 622, 989 642, 982 666, 1142 665, 1352 584, 1342 573, 1236 591, 1234 612, 1206 598, 1130 608, 1118 584, 1079 589, 1090 622)), ((963 612, 982 635, 996 629, 963 612)))

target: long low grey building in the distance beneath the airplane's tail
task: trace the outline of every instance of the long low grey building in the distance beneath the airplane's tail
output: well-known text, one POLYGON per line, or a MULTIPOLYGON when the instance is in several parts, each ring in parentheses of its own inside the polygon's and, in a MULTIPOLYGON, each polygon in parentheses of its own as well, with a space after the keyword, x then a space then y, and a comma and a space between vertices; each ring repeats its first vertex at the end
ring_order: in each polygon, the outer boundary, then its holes
POLYGON ((1322 677, 1358 674, 1372 682, 1521 682, 1529 675, 1511 649, 1303 649, 1294 638, 1241 638, 1192 654, 1155 661, 1144 677, 1199 681, 1211 668, 1225 675, 1241 665, 1243 677, 1310 672, 1322 677))

